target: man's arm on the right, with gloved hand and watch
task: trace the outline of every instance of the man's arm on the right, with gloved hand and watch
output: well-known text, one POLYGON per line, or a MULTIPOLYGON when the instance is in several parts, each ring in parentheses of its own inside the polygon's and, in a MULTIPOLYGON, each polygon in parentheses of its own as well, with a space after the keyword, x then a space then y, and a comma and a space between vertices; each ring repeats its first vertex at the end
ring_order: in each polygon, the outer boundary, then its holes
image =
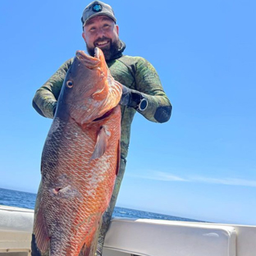
POLYGON ((136 89, 123 86, 121 105, 134 107, 150 121, 165 122, 171 117, 171 103, 164 93, 157 71, 144 58, 135 66, 136 89))

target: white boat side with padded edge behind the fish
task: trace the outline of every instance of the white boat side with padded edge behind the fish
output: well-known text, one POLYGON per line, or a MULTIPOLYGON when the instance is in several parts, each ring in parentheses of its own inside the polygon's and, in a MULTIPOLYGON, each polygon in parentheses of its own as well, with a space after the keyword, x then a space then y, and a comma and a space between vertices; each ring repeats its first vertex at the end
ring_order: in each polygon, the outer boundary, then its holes
MULTIPOLYGON (((0 206, 0 256, 30 255, 33 220, 33 210, 0 206)), ((256 226, 114 218, 103 256, 254 256, 255 252, 256 226)))

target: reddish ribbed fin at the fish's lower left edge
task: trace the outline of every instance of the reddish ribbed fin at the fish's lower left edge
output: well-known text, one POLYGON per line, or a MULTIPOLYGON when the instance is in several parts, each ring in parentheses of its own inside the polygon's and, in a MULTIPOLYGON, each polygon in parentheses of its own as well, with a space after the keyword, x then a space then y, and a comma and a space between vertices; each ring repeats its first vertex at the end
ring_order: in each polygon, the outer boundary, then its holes
POLYGON ((44 253, 50 245, 50 237, 43 219, 43 210, 39 208, 34 222, 34 241, 40 252, 44 253))

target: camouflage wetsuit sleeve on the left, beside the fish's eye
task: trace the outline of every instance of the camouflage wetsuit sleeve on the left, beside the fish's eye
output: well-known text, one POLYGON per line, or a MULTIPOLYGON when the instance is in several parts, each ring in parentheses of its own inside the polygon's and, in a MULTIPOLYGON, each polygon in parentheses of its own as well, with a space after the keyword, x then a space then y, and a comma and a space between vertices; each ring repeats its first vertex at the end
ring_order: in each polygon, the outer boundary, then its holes
POLYGON ((61 92, 66 71, 71 66, 73 58, 66 61, 51 77, 40 87, 33 98, 33 107, 43 117, 53 118, 57 105, 57 98, 61 92))

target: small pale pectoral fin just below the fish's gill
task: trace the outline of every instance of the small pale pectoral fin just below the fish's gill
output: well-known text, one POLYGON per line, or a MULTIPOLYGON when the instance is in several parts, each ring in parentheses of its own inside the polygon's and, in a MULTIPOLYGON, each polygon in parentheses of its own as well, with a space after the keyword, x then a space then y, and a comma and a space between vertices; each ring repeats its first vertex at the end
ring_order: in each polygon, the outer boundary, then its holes
POLYGON ((90 160, 94 160, 103 156, 107 149, 107 140, 109 134, 104 126, 102 126, 98 132, 97 141, 94 147, 94 153, 90 160))

